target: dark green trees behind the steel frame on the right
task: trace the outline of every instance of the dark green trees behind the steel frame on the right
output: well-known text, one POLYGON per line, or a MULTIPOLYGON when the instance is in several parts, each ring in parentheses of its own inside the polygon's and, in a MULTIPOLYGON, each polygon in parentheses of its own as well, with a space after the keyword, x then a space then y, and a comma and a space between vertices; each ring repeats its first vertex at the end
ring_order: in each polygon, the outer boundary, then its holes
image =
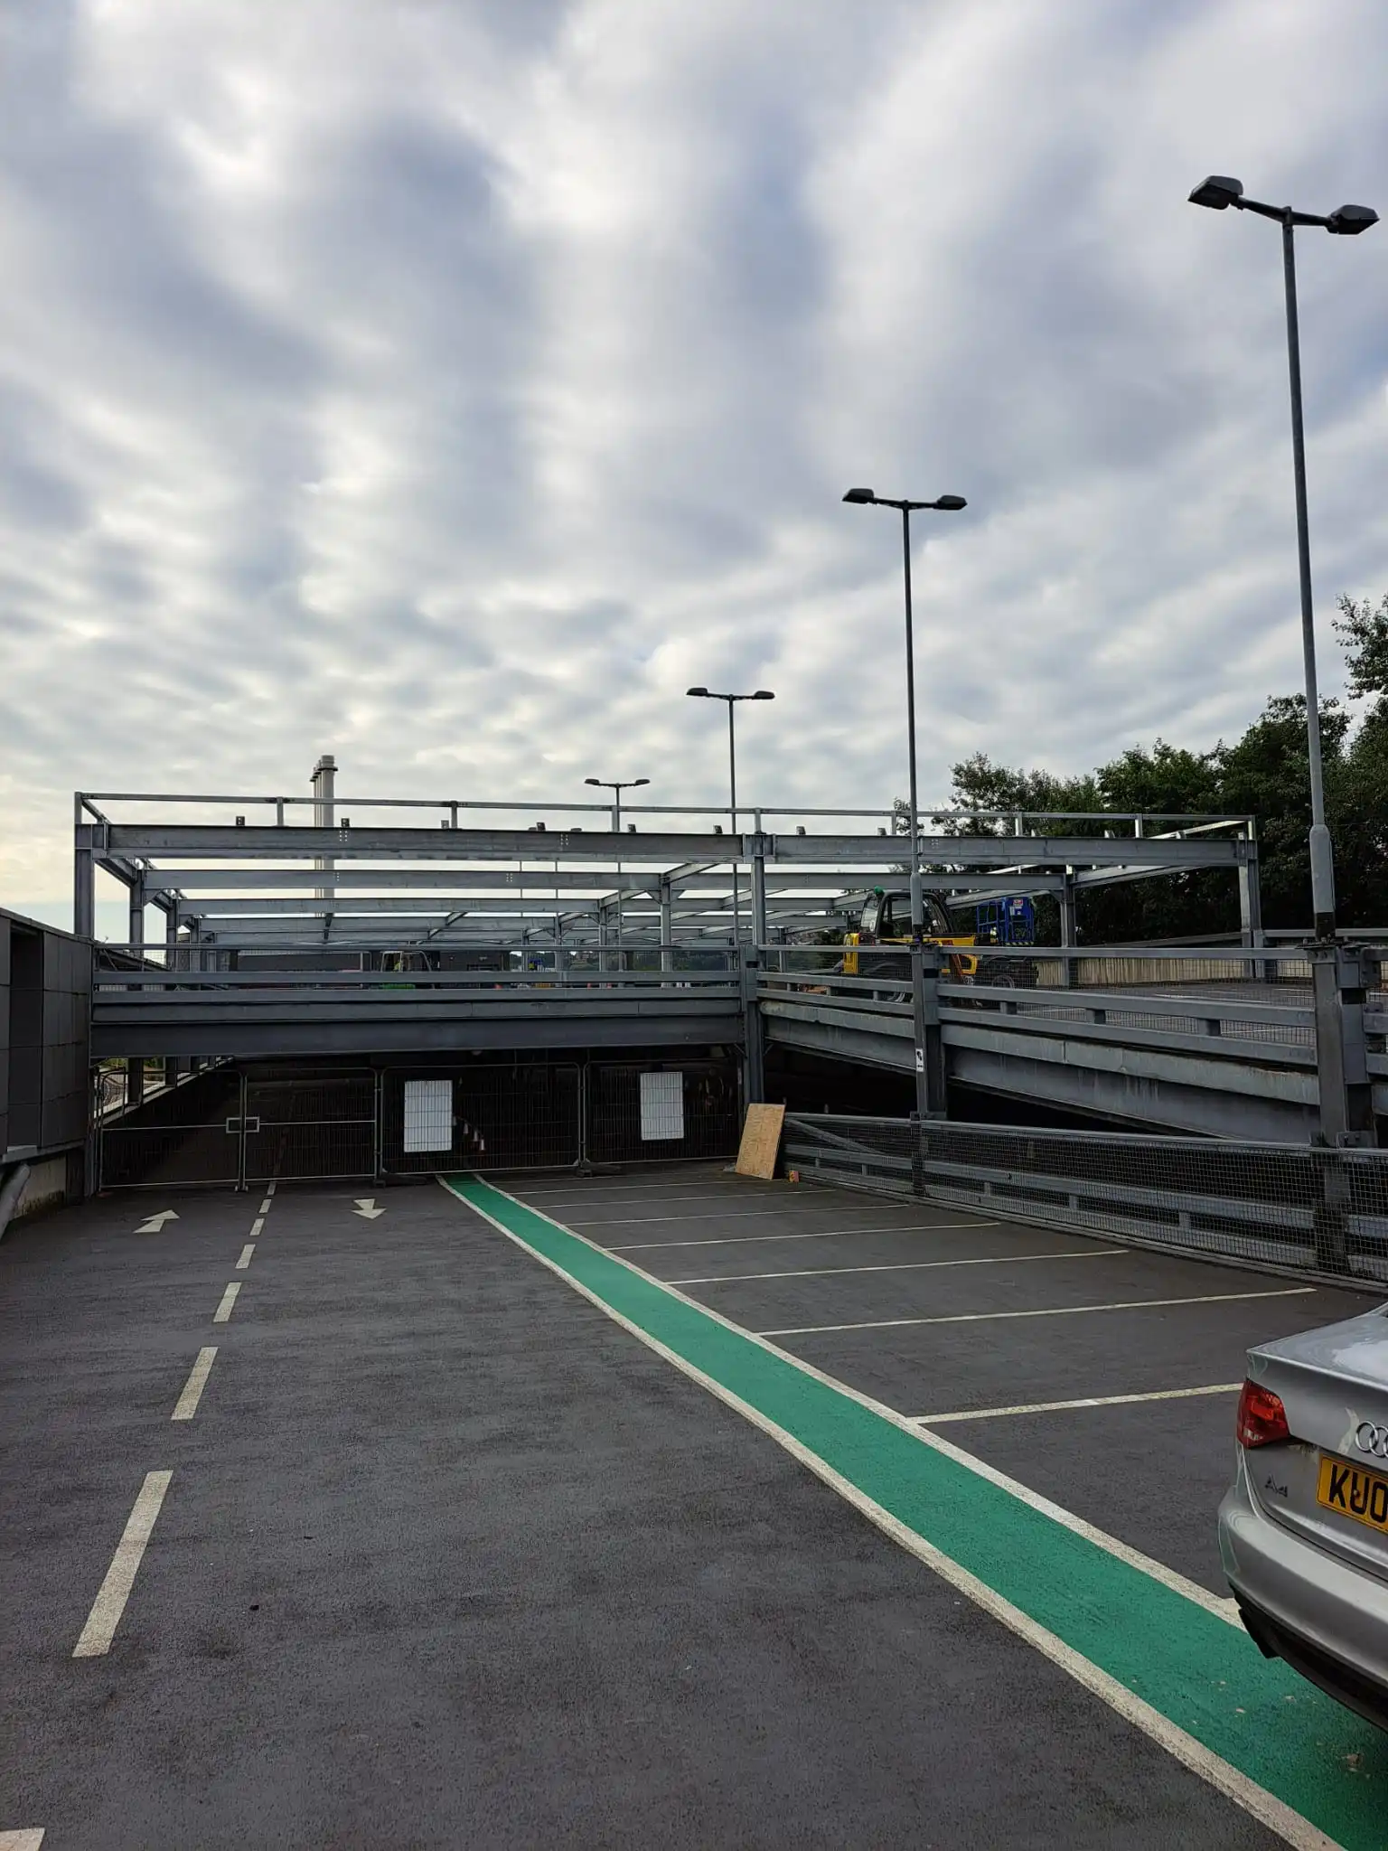
MULTIPOLYGON (((1351 692, 1377 698, 1358 727, 1340 702, 1321 702, 1336 898, 1342 924, 1382 926, 1388 922, 1388 596, 1377 609, 1368 600, 1342 598, 1340 611, 1336 629, 1351 692)), ((1310 924, 1307 703, 1299 694, 1270 698, 1233 744, 1220 740, 1210 752, 1190 752, 1159 739, 1151 748, 1131 746, 1079 777, 994 764, 977 752, 955 766, 951 794, 960 809, 1253 816, 1264 926, 1310 924)), ((1103 835, 1123 826, 1099 818, 1046 829, 1103 835)), ((1012 826, 960 820, 946 826, 946 833, 1010 835, 1012 826)), ((1055 903, 1038 901, 1036 913, 1044 937, 1055 938, 1055 903)), ((1229 874, 1207 872, 1088 888, 1079 896, 1079 927, 1090 944, 1234 931, 1236 883, 1229 874)))

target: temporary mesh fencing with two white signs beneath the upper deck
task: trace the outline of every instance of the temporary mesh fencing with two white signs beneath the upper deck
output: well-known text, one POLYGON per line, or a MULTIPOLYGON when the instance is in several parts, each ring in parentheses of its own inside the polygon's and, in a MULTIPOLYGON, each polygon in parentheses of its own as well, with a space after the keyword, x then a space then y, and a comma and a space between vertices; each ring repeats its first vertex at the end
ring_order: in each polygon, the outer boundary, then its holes
POLYGON ((731 1061, 224 1062, 98 1131, 104 1188, 731 1157, 731 1061))

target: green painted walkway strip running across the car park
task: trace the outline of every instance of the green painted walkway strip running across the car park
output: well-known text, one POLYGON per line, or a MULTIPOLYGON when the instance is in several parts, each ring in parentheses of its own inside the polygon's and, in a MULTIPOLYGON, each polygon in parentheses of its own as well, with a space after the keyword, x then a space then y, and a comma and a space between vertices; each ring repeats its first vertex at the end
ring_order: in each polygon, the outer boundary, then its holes
POLYGON ((446 1186, 1331 1840, 1388 1847, 1388 1736, 1240 1627, 492 1185, 446 1186))

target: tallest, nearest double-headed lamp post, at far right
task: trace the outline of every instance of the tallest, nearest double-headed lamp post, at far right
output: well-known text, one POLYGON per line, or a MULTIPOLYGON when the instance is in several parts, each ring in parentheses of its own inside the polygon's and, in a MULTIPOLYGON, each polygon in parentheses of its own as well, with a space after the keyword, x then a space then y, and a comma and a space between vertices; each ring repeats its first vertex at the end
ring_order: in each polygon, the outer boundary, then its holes
POLYGON ((1316 937, 1334 937, 1334 857, 1331 831, 1325 827, 1325 787, 1321 779, 1321 714, 1316 689, 1316 626, 1310 600, 1310 535, 1307 524, 1307 439, 1301 428, 1301 337, 1297 331, 1297 272, 1294 231, 1297 226, 1320 226, 1336 237, 1358 237, 1379 215, 1368 205, 1340 205, 1321 218, 1318 213, 1297 213, 1290 205, 1264 205, 1244 198, 1244 183, 1225 174, 1210 174, 1190 194, 1192 205, 1208 205, 1216 213, 1231 205, 1240 213, 1277 218, 1283 228, 1283 281, 1286 285, 1286 366, 1292 379, 1292 472, 1297 498, 1297 555, 1301 563, 1301 653, 1307 670, 1307 757, 1310 759, 1310 905, 1316 914, 1316 937))

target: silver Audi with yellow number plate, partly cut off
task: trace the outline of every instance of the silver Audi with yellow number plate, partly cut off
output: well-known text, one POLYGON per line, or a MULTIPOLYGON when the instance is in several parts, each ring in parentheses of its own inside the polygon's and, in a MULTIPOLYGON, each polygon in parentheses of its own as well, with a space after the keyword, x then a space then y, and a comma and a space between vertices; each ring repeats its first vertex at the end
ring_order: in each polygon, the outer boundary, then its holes
POLYGON ((1388 1305, 1249 1349, 1220 1555, 1262 1651, 1388 1729, 1388 1305))

